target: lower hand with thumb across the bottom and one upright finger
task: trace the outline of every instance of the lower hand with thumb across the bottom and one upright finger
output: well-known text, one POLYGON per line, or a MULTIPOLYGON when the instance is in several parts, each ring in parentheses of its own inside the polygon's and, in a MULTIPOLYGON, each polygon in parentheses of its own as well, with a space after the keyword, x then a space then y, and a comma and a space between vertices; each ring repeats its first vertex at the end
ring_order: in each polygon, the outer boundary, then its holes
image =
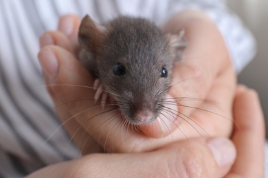
POLYGON ((146 153, 89 154, 28 177, 264 177, 264 119, 256 92, 238 87, 234 120, 235 162, 227 138, 195 138, 146 153))

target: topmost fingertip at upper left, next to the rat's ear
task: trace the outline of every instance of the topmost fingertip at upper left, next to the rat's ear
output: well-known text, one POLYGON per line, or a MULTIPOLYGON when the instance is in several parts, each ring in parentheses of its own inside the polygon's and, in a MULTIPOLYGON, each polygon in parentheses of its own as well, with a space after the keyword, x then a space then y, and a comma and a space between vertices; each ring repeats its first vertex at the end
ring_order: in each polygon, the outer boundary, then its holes
POLYGON ((75 14, 67 14, 65 16, 61 16, 58 21, 58 30, 62 31, 69 40, 71 40, 71 44, 74 49, 78 49, 78 30, 80 26, 81 19, 79 16, 75 14))

